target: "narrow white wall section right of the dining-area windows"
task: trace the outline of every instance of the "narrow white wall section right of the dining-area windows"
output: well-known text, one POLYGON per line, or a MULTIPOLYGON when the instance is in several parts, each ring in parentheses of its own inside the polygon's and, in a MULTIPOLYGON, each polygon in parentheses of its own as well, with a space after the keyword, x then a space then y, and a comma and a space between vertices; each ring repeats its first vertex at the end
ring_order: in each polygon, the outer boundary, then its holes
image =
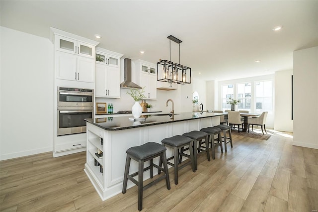
POLYGON ((275 130, 293 131, 292 75, 293 70, 275 72, 275 130))

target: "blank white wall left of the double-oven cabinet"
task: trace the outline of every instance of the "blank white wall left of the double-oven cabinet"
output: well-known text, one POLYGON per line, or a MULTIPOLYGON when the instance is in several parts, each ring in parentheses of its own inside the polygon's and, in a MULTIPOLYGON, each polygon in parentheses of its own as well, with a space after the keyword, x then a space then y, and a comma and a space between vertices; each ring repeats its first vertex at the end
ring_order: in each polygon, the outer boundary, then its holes
POLYGON ((53 44, 0 30, 0 160, 52 151, 53 44))

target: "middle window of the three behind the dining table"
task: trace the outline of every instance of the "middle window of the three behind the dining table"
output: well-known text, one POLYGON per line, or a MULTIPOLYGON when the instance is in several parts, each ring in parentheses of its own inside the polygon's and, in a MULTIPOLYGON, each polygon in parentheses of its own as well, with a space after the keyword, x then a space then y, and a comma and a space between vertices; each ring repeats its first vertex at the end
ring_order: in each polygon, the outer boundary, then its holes
POLYGON ((251 84, 250 83, 240 83, 238 84, 238 100, 239 109, 250 111, 250 101, 251 101, 251 84))

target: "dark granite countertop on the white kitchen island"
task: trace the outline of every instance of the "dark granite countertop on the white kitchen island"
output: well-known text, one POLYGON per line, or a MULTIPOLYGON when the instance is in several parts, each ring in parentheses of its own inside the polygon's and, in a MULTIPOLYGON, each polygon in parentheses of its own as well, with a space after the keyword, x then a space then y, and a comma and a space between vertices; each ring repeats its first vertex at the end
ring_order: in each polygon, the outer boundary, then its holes
POLYGON ((224 115, 225 113, 216 112, 180 112, 174 113, 174 119, 165 114, 153 114, 153 115, 142 115, 141 118, 146 118, 145 121, 131 121, 129 118, 133 116, 120 116, 120 117, 105 117, 105 118, 87 118, 85 121, 92 123, 105 130, 122 130, 131 129, 137 127, 152 126, 157 124, 164 124, 177 121, 192 120, 197 118, 213 117, 224 115))

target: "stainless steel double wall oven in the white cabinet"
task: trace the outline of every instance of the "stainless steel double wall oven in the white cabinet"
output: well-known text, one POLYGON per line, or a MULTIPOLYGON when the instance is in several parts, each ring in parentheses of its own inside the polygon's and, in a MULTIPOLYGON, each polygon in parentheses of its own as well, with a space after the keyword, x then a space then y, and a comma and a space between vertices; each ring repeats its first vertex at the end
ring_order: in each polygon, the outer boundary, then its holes
POLYGON ((93 117, 94 90, 58 87, 57 135, 86 132, 84 118, 93 117))

